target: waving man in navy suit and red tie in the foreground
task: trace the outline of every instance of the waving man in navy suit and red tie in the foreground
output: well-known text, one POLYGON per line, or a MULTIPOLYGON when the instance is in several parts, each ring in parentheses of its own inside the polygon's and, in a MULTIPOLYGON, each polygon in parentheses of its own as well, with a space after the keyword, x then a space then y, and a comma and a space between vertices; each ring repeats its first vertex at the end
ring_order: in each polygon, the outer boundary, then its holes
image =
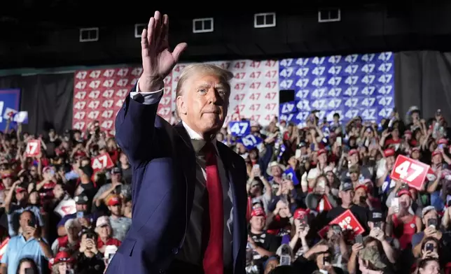
POLYGON ((155 12, 141 38, 143 74, 116 117, 133 168, 132 226, 106 273, 245 273, 246 167, 216 133, 232 75, 195 64, 181 73, 172 126, 158 116, 163 79, 185 50, 169 52, 168 17, 155 12))

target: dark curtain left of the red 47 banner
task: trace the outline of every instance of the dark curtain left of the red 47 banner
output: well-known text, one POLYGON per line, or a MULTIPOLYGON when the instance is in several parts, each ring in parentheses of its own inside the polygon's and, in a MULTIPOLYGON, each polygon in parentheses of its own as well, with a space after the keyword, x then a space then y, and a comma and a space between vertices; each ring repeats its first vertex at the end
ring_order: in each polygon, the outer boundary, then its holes
POLYGON ((42 134, 53 127, 57 133, 72 127, 74 73, 12 75, 0 78, 0 89, 21 89, 20 110, 28 111, 23 130, 42 134))

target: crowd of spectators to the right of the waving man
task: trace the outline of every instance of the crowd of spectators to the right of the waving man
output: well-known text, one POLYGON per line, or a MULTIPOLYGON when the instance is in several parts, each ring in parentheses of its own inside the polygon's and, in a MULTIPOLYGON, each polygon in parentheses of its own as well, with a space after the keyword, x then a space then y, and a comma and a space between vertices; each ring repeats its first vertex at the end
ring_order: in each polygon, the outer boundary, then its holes
POLYGON ((251 126, 263 143, 236 143, 249 176, 247 273, 450 273, 451 159, 440 110, 426 120, 416 107, 403 118, 394 110, 380 124, 312 113, 301 129, 251 126), (430 166, 421 187, 391 178, 401 154, 430 166))

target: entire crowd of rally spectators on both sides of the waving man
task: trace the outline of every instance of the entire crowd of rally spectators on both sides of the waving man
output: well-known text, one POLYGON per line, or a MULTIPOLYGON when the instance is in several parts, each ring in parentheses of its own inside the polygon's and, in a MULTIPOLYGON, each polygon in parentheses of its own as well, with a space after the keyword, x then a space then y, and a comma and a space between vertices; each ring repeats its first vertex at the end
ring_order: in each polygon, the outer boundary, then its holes
MULTIPOLYGON (((415 107, 380 124, 251 122, 256 147, 223 128, 217 140, 247 163, 247 273, 450 273, 447 131, 439 110, 424 120, 415 107), (431 166, 422 189, 391 179, 399 154, 431 166), (358 228, 334 222, 343 214, 358 228)), ((104 273, 132 222, 132 167, 114 136, 98 122, 42 136, 18 124, 0 142, 0 273, 104 273), (113 164, 97 170, 102 154, 113 164)))

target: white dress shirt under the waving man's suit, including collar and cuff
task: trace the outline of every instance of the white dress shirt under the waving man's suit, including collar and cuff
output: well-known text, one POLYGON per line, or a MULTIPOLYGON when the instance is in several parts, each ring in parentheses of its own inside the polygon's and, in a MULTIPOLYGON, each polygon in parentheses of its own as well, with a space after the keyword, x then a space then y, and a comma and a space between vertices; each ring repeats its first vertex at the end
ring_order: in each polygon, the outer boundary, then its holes
MULTIPOLYGON (((136 99, 139 94, 144 97, 144 104, 150 105, 156 103, 162 96, 164 88, 156 92, 139 92, 139 84, 137 85, 137 92, 130 92, 130 97, 136 99)), ((188 136, 191 139, 202 140, 202 136, 197 132, 190 129, 185 122, 182 122, 183 127, 186 129, 188 136)), ((224 266, 233 266, 233 196, 232 188, 230 187, 230 181, 228 175, 225 172, 223 161, 219 157, 218 147, 216 139, 213 140, 214 147, 216 149, 218 157, 218 173, 223 187, 223 211, 224 211, 224 266)), ((193 209, 191 210, 190 220, 188 222, 188 229, 186 230, 186 238, 183 246, 176 259, 186 261, 190 264, 202 266, 202 215, 204 214, 204 208, 202 206, 202 197, 204 196, 207 173, 205 163, 199 161, 196 157, 196 182, 193 200, 193 209)))

